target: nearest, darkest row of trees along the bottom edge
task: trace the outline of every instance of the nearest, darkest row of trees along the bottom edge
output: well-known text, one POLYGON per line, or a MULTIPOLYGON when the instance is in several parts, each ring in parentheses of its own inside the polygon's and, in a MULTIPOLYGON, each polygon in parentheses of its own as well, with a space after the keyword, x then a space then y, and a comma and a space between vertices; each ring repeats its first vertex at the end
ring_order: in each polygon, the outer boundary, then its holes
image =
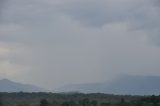
POLYGON ((49 103, 46 99, 42 99, 39 106, 160 106, 160 96, 152 95, 133 101, 126 101, 124 98, 121 98, 121 100, 117 102, 98 102, 97 100, 85 98, 78 102, 65 101, 60 103, 53 100, 52 103, 49 103))

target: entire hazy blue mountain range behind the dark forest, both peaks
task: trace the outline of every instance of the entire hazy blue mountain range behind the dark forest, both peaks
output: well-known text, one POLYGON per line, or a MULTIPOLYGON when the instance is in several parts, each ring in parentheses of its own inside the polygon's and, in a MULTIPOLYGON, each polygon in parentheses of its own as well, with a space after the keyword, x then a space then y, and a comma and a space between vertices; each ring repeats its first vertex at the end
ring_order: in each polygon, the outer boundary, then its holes
MULTIPOLYGON (((0 80, 0 92, 48 92, 49 90, 10 81, 0 80)), ((120 76, 110 82, 72 84, 55 89, 54 92, 108 93, 122 95, 159 95, 159 76, 120 76)))

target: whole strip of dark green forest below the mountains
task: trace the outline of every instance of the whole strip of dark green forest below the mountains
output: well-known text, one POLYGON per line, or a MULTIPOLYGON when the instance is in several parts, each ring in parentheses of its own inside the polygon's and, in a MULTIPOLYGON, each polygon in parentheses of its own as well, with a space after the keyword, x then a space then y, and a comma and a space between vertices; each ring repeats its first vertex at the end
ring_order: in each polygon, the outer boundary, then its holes
POLYGON ((0 106, 160 106, 160 96, 101 93, 0 93, 0 106))

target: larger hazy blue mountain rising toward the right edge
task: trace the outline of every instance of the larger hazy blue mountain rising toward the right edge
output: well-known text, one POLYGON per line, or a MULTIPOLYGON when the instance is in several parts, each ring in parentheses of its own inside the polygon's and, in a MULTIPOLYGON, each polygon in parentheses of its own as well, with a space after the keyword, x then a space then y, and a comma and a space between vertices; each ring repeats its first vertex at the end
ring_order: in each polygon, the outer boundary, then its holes
POLYGON ((122 95, 159 95, 159 76, 119 76, 109 83, 73 84, 56 89, 57 92, 109 93, 122 95))

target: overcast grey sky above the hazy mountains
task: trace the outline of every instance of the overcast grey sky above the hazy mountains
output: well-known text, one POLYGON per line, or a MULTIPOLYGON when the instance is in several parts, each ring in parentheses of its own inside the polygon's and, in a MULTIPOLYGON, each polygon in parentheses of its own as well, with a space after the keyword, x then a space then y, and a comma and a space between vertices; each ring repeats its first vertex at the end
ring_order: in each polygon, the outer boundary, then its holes
POLYGON ((159 0, 0 0, 0 78, 55 89, 160 76, 159 0))

